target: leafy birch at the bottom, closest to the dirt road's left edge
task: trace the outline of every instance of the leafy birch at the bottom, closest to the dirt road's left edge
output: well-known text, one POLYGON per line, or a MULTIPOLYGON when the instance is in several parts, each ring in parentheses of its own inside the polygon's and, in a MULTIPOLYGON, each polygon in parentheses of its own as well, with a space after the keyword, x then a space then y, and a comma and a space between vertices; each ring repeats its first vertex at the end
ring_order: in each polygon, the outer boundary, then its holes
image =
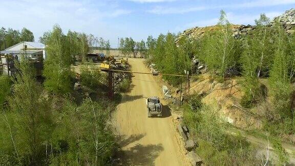
POLYGON ((84 152, 82 157, 85 160, 88 158, 91 165, 102 165, 112 154, 114 144, 113 136, 106 125, 109 110, 101 103, 87 98, 78 108, 78 112, 81 114, 80 125, 84 131, 82 142, 79 143, 84 152))

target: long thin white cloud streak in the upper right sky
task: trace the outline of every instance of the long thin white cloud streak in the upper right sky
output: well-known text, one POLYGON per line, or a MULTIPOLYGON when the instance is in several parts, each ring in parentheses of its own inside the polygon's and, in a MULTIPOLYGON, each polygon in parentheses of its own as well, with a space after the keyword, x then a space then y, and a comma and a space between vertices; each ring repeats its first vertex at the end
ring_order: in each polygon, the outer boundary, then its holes
POLYGON ((183 14, 183 13, 189 13, 189 12, 204 11, 209 9, 226 9, 226 8, 238 9, 238 8, 254 8, 254 7, 267 7, 267 6, 291 5, 291 4, 295 4, 295 0, 256 0, 256 1, 251 1, 246 3, 241 3, 241 4, 229 4, 229 5, 218 5, 218 6, 196 6, 196 7, 156 6, 151 10, 147 10, 147 12, 153 13, 153 14, 183 14))

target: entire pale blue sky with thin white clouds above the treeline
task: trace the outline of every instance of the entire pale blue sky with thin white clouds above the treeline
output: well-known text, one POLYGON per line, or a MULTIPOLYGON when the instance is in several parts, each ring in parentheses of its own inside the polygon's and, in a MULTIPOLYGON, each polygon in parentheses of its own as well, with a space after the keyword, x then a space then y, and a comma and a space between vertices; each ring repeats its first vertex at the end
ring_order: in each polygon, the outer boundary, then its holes
POLYGON ((69 29, 110 39, 135 40, 215 25, 224 9, 233 24, 254 24, 260 13, 274 17, 295 7, 295 0, 0 0, 0 27, 30 29, 36 40, 59 24, 69 29), (5 14, 4 14, 5 13, 5 14))

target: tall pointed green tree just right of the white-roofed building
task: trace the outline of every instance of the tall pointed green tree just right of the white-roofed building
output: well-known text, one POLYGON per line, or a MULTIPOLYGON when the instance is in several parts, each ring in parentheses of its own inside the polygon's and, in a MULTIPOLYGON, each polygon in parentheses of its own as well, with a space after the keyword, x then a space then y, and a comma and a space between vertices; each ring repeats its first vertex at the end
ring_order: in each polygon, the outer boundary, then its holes
POLYGON ((46 90, 62 94, 70 91, 71 55, 69 41, 59 26, 54 26, 47 42, 43 75, 46 90))

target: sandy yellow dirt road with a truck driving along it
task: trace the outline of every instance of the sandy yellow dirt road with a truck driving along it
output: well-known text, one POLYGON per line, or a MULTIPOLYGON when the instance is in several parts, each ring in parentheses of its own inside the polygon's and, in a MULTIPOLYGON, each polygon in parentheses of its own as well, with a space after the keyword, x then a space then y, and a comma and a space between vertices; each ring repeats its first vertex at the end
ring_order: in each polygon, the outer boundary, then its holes
MULTIPOLYGON (((128 61, 132 71, 149 72, 143 59, 128 61)), ((123 162, 128 165, 185 165, 166 103, 163 102, 163 117, 147 118, 145 97, 163 97, 154 76, 134 74, 132 86, 130 93, 123 94, 114 113, 123 162)))

